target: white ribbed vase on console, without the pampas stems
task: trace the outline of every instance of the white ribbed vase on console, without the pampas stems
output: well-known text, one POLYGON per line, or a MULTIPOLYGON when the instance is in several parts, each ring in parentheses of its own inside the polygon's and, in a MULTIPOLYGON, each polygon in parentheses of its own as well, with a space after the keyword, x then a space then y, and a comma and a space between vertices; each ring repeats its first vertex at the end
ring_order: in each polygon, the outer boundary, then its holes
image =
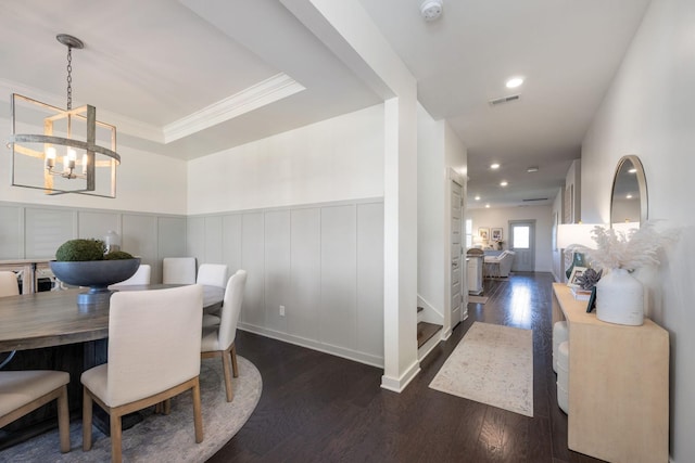
POLYGON ((642 282, 624 269, 612 269, 596 283, 596 318, 608 323, 644 323, 642 282))

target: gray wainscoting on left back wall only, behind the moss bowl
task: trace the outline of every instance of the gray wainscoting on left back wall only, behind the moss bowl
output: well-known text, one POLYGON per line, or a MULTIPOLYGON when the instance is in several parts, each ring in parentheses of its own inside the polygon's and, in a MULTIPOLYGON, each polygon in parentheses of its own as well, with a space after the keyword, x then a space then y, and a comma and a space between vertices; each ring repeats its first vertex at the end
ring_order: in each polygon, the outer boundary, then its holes
POLYGON ((186 255, 186 216, 0 202, 0 260, 52 259, 65 241, 109 230, 152 266, 153 283, 162 281, 162 258, 186 255))

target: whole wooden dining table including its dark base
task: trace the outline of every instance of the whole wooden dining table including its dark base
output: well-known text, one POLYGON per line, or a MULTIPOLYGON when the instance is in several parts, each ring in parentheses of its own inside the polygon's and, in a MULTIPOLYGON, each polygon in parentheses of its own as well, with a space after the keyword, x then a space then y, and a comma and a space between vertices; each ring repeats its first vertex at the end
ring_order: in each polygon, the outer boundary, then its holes
MULTIPOLYGON (((118 286, 113 292, 157 291, 177 286, 182 285, 127 285, 118 286)), ((71 288, 0 297, 0 352, 16 351, 4 370, 67 371, 71 374, 68 401, 73 416, 81 410, 79 375, 108 360, 109 298, 99 304, 77 304, 77 295, 86 291, 71 288)), ((203 312, 218 310, 224 295, 223 287, 203 285, 203 312)), ((3 355, 3 358, 7 357, 3 355)), ((108 415, 100 420, 94 414, 94 425, 108 434, 109 426, 104 420, 108 420, 108 415)), ((124 428, 136 421, 130 424, 124 421, 124 428)), ((0 450, 30 438, 36 429, 43 428, 41 426, 54 424, 54 410, 37 410, 3 428, 0 450)))

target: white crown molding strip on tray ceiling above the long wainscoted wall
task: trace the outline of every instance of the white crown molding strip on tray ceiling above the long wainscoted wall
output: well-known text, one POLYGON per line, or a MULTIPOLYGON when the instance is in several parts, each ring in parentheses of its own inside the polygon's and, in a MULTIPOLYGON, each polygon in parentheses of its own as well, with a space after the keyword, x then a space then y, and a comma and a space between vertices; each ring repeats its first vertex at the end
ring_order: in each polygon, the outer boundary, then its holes
POLYGON ((280 73, 248 89, 211 104, 195 113, 164 126, 164 143, 170 143, 216 126, 258 107, 305 90, 290 76, 280 73))

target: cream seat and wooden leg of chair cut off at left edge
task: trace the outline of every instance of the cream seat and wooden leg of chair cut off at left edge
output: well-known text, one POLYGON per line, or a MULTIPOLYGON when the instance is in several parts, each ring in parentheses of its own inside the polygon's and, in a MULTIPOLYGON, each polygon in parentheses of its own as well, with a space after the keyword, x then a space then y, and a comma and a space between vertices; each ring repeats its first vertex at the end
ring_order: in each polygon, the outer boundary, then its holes
POLYGON ((58 400, 61 452, 70 452, 67 383, 70 374, 63 371, 0 371, 0 428, 58 400))

